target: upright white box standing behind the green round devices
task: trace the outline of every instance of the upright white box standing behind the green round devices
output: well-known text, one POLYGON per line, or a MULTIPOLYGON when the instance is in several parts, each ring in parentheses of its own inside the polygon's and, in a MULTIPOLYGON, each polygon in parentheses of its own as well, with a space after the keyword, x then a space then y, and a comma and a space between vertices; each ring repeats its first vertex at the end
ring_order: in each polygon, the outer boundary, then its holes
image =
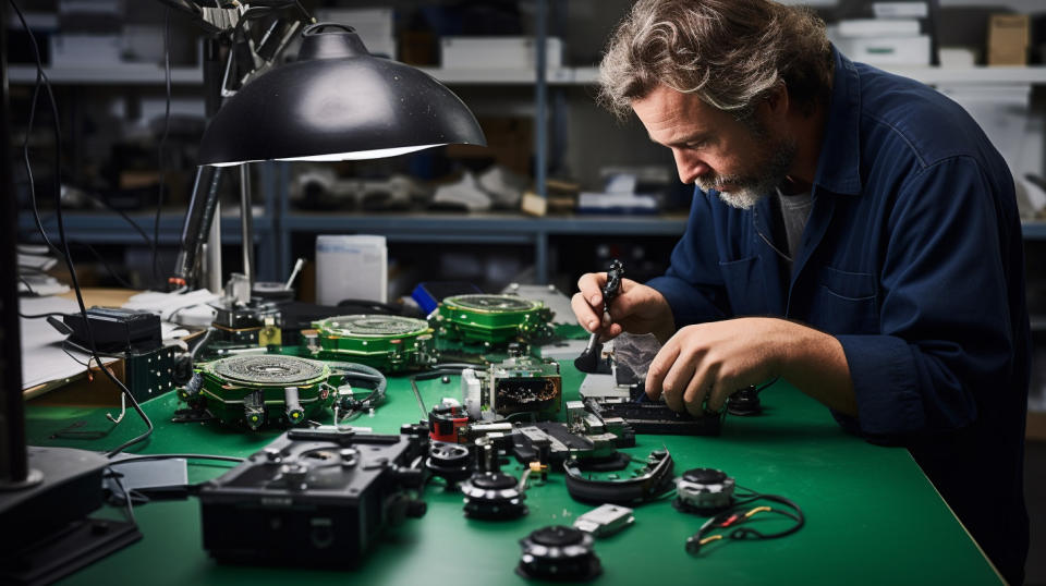
POLYGON ((385 236, 316 236, 316 303, 388 301, 389 263, 385 236))

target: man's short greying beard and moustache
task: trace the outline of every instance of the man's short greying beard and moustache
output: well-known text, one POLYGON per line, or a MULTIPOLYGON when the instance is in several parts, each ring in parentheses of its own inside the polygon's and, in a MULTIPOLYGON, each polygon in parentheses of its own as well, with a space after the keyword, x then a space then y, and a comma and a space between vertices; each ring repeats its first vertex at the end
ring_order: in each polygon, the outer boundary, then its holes
POLYGON ((752 123, 750 130, 753 136, 766 146, 759 149, 754 162, 746 170, 731 175, 710 174, 694 180, 698 187, 705 192, 715 190, 723 203, 738 209, 752 209, 767 194, 774 193, 788 176, 798 150, 794 138, 768 142, 765 129, 755 121, 752 123), (723 190, 727 185, 730 188, 723 190))

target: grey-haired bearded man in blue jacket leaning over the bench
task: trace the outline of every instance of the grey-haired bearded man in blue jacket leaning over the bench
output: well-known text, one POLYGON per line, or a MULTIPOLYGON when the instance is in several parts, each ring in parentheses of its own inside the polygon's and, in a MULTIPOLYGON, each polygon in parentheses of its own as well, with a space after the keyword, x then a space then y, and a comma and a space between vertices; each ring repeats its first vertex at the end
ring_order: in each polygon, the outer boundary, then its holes
POLYGON ((1030 334, 1013 181, 956 103, 853 63, 805 9, 640 0, 600 65, 696 190, 664 277, 623 280, 603 338, 654 333, 652 398, 695 415, 781 377, 907 447, 1012 583, 1027 552, 1030 334))

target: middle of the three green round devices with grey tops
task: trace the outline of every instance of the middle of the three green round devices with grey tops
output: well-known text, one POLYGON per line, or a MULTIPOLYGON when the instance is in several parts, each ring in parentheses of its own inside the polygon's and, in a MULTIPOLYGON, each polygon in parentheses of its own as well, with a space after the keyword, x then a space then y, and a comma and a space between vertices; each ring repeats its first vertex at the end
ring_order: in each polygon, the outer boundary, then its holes
POLYGON ((366 364, 384 373, 427 368, 437 361, 433 330, 423 319, 351 315, 323 319, 313 327, 320 358, 366 364))

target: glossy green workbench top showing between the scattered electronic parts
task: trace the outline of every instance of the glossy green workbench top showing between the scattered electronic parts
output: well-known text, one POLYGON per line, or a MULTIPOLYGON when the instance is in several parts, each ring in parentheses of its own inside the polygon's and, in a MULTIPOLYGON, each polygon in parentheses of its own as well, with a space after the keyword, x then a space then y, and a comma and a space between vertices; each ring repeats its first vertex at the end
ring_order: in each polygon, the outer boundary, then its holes
MULTIPOLYGON (((564 401, 576 399, 582 375, 563 365, 564 401)), ((430 407, 443 396, 460 396, 459 381, 419 381, 430 407)), ((60 392, 60 391, 58 391, 60 392)), ((137 436, 143 423, 133 412, 112 428, 97 405, 64 405, 48 395, 27 406, 28 441, 105 450, 137 436), (45 404, 46 403, 46 404, 45 404), (102 438, 80 439, 84 431, 111 431, 102 438), (72 435, 69 431, 73 431, 72 435)), ((842 431, 829 412, 784 382, 763 391, 765 411, 755 417, 728 416, 719 437, 638 436, 628 451, 643 459, 668 449, 676 475, 694 467, 727 472, 739 486, 787 497, 799 503, 806 525, 776 540, 721 540, 698 557, 684 542, 704 517, 684 514, 671 497, 636 506, 634 525, 595 542, 604 573, 595 584, 988 584, 1000 578, 947 504, 901 448, 872 445, 842 431)), ((217 422, 174 424, 180 405, 174 393, 144 404, 156 425, 151 438, 132 451, 139 453, 207 453, 246 456, 279 431, 244 432, 217 422)), ((118 411, 118 408, 117 408, 118 411)), ((354 425, 375 432, 398 432, 422 413, 405 377, 389 379, 386 402, 354 425)), ((329 422, 323 422, 329 423, 329 422)), ((191 483, 204 481, 231 464, 191 461, 191 483)), ((503 472, 519 478, 514 460, 503 472)), ((593 509, 567 492, 562 473, 526 492, 530 513, 514 521, 466 518, 459 492, 440 481, 425 490, 428 510, 419 520, 390 527, 352 571, 324 571, 294 565, 285 552, 283 567, 218 564, 202 546, 199 503, 157 501, 135 508, 144 538, 65 578, 66 584, 525 584, 514 573, 519 540, 532 530, 570 525, 593 509)), ((120 517, 118 508, 97 514, 120 517)), ((773 517, 773 518, 771 518, 773 517)), ((755 525, 783 528, 789 520, 755 525)), ((5 528, 4 530, 9 530, 5 528)), ((230 530, 235 530, 230 527, 230 530)))

